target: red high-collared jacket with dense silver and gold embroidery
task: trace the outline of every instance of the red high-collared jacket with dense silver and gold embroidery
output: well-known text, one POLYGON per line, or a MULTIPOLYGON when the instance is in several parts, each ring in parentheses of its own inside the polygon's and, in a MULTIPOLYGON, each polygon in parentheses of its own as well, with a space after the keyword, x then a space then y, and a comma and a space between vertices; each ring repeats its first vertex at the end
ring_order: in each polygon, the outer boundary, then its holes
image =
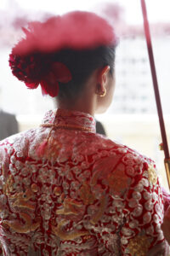
POLYGON ((96 134, 88 113, 58 109, 42 123, 0 143, 3 255, 145 256, 159 247, 154 162, 96 134))

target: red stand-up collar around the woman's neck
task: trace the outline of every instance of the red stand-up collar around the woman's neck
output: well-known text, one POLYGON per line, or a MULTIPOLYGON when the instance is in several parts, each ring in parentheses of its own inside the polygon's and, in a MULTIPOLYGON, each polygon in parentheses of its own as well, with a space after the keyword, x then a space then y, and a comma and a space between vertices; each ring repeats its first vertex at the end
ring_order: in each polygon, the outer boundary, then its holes
POLYGON ((55 109, 49 110, 42 120, 42 124, 54 125, 75 125, 88 128, 96 132, 96 123, 94 117, 89 113, 76 110, 55 109))

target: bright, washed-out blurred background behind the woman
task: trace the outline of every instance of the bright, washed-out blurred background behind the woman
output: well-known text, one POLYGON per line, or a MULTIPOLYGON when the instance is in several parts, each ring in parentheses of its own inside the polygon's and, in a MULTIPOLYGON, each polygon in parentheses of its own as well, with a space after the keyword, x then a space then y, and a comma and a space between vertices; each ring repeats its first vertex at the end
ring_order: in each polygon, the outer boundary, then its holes
MULTIPOLYGON (((145 0, 161 102, 170 142, 170 2, 145 0)), ((160 128, 150 75, 139 0, 1 0, 0 1, 0 110, 14 114, 19 131, 41 124, 44 113, 54 107, 40 88, 28 90, 8 67, 12 46, 23 35, 21 26, 31 20, 46 20, 71 10, 90 10, 104 16, 120 38, 116 51, 116 93, 107 113, 96 118, 108 137, 135 148, 156 161, 161 183, 167 188, 160 128)), ((0 119, 1 120, 1 119, 0 119)), ((1 122, 1 121, 0 121, 1 122)), ((0 123, 0 127, 3 123, 0 123)))

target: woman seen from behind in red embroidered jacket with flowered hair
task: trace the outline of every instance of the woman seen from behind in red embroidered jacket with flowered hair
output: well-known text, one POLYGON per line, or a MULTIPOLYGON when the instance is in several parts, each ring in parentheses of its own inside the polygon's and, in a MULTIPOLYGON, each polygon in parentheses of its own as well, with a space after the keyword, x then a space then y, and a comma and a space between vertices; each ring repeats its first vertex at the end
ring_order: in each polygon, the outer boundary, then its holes
POLYGON ((0 143, 3 255, 167 255, 155 163, 95 133, 115 90, 112 27, 77 11, 24 32, 12 72, 58 108, 0 143))

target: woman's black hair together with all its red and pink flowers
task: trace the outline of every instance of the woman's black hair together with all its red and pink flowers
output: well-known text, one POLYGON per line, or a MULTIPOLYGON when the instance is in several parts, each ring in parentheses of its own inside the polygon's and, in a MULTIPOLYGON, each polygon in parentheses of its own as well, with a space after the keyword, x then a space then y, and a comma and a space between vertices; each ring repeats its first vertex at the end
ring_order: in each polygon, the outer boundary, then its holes
POLYGON ((71 12, 45 22, 31 22, 26 38, 14 46, 9 64, 14 76, 42 94, 74 98, 95 69, 113 73, 116 36, 101 17, 71 12), (56 65, 55 65, 56 64, 56 65))

